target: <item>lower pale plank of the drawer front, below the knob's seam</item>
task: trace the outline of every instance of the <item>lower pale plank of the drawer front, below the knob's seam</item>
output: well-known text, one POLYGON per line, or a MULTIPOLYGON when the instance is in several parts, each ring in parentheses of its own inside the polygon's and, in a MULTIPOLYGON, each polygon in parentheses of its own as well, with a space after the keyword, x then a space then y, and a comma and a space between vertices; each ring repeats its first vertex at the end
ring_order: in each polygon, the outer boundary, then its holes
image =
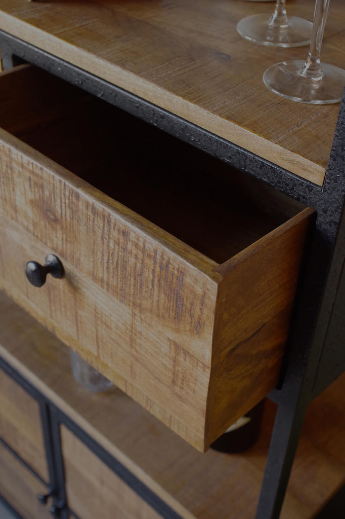
POLYGON ((132 318, 124 305, 109 299, 92 281, 85 282, 66 260, 63 280, 48 279, 43 291, 32 287, 25 278, 25 258, 30 260, 31 254, 44 258, 47 250, 4 216, 3 223, 5 220, 5 227, 0 229, 2 286, 98 371, 202 448, 207 366, 192 354, 179 351, 172 339, 168 338, 164 345, 163 326, 157 325, 154 330, 137 313, 132 318), (13 257, 24 261, 13 263, 13 257), (161 341, 152 337, 152 332, 161 332, 161 341), (131 333, 133 346, 128 346, 131 333), (151 334, 151 338, 146 334, 151 334), (159 359, 161 364, 157 364, 159 359), (183 386, 184 378, 187 380, 183 386))

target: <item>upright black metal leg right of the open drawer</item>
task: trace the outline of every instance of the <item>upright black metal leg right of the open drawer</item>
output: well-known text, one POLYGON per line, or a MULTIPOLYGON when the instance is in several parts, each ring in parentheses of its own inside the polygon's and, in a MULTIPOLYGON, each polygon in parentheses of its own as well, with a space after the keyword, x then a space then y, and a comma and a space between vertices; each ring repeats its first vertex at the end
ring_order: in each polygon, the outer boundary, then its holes
MULTIPOLYGON (((289 360, 280 391, 256 519, 280 515, 306 409, 313 386, 344 257, 345 234, 345 92, 314 228, 296 321, 289 342, 289 360)), ((345 368, 345 366, 344 366, 345 368)), ((321 372, 320 377, 324 377, 321 372)), ((329 383, 329 380, 328 380, 329 383)))

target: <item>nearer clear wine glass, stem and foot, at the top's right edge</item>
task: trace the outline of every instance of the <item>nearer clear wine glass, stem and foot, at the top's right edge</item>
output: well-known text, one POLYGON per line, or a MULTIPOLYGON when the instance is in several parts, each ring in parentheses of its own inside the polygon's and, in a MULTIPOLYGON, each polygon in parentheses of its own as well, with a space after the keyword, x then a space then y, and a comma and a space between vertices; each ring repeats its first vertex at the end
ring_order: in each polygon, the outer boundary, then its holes
POLYGON ((337 103, 345 87, 345 70, 320 63, 329 0, 316 0, 307 61, 283 61, 264 73, 264 83, 286 99, 309 104, 337 103))

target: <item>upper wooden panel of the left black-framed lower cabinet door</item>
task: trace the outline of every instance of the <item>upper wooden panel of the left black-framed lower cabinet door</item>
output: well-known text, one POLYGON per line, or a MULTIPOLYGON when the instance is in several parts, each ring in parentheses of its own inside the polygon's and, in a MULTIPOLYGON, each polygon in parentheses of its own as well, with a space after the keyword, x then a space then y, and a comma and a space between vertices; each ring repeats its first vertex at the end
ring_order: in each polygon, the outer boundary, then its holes
POLYGON ((0 370, 0 438, 47 483, 49 473, 39 404, 0 370))

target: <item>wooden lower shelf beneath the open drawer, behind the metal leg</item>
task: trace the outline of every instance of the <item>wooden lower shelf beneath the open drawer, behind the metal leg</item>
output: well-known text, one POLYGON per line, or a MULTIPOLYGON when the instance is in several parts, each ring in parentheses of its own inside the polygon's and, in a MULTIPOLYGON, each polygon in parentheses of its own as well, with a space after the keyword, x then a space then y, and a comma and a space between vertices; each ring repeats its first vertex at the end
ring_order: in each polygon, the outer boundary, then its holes
MULTIPOLYGON (((0 355, 185 519, 253 519, 275 405, 246 454, 200 454, 118 389, 92 394, 68 349, 0 294, 0 355)), ((311 519, 345 482, 345 377, 308 409, 282 519, 311 519)))

